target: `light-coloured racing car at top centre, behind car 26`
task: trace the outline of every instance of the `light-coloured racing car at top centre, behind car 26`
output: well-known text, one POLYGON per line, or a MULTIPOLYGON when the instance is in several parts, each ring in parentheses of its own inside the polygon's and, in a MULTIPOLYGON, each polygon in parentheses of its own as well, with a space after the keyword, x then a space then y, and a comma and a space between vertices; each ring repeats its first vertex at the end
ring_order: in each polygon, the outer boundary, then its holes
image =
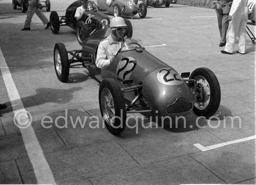
POLYGON ((111 13, 115 17, 131 17, 139 13, 141 18, 145 18, 147 15, 147 6, 145 3, 141 2, 138 7, 131 0, 99 0, 98 7, 101 11, 111 13))

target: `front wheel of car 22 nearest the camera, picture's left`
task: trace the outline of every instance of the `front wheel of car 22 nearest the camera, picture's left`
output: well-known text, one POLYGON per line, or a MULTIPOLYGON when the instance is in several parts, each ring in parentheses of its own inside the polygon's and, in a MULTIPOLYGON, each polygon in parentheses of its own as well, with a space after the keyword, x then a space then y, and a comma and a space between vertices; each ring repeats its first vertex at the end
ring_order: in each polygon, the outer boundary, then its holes
POLYGON ((107 78, 101 81, 99 103, 102 119, 104 118, 108 131, 112 134, 120 134, 126 126, 126 109, 121 88, 114 79, 107 78), (115 118, 111 122, 111 118, 114 116, 117 116, 119 119, 115 118))

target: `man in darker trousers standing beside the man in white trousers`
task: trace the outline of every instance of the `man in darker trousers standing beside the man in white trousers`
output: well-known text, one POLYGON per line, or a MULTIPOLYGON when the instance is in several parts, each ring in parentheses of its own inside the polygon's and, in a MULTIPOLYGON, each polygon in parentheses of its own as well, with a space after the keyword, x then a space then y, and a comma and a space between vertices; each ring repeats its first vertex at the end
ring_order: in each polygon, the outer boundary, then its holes
POLYGON ((233 0, 216 0, 213 4, 216 6, 217 20, 221 40, 219 46, 226 45, 226 34, 229 28, 229 11, 233 0))

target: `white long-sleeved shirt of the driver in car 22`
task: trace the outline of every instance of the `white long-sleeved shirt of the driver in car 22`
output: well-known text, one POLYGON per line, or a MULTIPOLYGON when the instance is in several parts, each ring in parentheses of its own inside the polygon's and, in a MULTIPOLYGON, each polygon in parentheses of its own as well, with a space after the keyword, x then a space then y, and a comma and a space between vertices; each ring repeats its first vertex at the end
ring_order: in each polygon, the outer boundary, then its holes
POLYGON ((114 58, 117 51, 121 48, 122 42, 115 42, 110 34, 107 38, 101 40, 98 47, 96 66, 98 68, 106 68, 110 64, 110 59, 114 58))

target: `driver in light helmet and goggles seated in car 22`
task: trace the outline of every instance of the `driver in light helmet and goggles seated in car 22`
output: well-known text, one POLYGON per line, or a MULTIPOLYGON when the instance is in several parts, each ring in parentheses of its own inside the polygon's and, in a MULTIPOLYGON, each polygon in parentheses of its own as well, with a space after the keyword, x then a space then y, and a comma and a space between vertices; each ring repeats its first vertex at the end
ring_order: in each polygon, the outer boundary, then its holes
POLYGON ((110 21, 111 34, 101 40, 98 47, 96 66, 106 68, 112 62, 117 51, 123 46, 123 37, 127 30, 127 25, 123 18, 115 17, 110 21))

